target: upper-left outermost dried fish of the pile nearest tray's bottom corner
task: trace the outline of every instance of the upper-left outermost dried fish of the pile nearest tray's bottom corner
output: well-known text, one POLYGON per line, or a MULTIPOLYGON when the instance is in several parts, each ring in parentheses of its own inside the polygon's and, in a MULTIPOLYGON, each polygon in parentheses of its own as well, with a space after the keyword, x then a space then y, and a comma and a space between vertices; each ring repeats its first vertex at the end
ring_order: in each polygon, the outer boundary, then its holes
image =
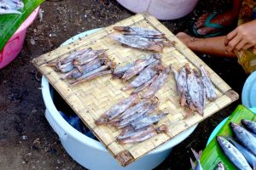
POLYGON ((114 117, 126 111, 131 105, 136 105, 139 101, 137 94, 132 94, 130 97, 121 100, 117 105, 113 105, 107 112, 105 112, 99 119, 96 120, 96 124, 106 124, 114 117))

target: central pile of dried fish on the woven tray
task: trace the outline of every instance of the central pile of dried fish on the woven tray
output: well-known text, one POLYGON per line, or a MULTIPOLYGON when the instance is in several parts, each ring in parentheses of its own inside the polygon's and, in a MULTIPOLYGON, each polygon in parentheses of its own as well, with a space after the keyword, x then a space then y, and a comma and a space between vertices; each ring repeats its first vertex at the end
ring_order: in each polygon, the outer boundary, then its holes
POLYGON ((160 54, 151 54, 147 58, 137 59, 133 64, 117 67, 113 71, 113 77, 120 78, 123 82, 135 77, 122 90, 134 88, 132 94, 137 94, 148 88, 143 98, 150 98, 164 85, 169 73, 170 67, 161 65, 160 54))

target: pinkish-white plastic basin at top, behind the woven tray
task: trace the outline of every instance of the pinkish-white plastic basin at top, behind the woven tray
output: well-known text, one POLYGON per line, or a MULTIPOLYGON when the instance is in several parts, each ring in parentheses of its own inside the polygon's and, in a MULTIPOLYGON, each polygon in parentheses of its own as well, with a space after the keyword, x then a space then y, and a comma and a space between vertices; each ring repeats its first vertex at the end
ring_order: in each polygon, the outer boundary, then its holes
POLYGON ((189 14, 198 0, 117 0, 134 13, 148 12, 159 20, 174 20, 189 14))

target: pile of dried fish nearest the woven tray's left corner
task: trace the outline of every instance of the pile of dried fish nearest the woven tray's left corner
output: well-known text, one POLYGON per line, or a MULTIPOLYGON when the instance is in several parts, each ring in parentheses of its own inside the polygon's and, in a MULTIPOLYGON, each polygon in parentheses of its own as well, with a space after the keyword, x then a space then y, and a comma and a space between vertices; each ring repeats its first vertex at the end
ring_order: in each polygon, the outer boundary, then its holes
POLYGON ((86 48, 69 54, 64 59, 49 62, 48 65, 63 73, 62 79, 69 79, 75 85, 112 73, 115 64, 108 59, 105 51, 86 48))

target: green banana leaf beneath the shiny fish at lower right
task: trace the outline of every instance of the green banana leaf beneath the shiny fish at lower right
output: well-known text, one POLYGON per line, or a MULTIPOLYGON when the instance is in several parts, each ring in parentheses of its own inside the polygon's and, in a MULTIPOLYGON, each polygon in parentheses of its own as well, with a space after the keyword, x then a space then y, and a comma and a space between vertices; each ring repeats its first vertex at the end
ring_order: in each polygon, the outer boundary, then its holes
MULTIPOLYGON (((244 106, 238 105, 228 121, 225 122, 224 127, 218 131, 216 136, 233 136, 232 130, 230 128, 230 122, 241 124, 241 119, 247 119, 256 122, 256 115, 244 106)), ((236 169, 236 167, 229 161, 229 159, 224 155, 224 152, 219 147, 216 136, 214 136, 210 144, 208 144, 207 148, 203 151, 201 156, 201 166, 204 169, 211 170, 215 169, 214 167, 218 164, 218 161, 222 161, 226 170, 236 169)))

